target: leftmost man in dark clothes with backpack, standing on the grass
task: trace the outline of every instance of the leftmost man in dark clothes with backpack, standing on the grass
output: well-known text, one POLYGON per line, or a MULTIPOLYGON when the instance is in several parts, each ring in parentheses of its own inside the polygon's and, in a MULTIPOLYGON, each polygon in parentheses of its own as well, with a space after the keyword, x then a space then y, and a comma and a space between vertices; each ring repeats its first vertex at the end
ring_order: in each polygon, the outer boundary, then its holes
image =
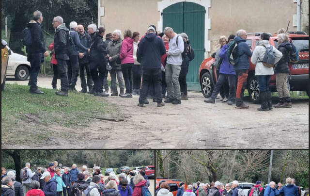
POLYGON ((27 57, 28 61, 31 64, 30 69, 30 93, 34 94, 44 94, 43 91, 38 89, 37 81, 38 81, 38 74, 40 72, 41 68, 41 62, 44 58, 42 55, 47 57, 48 51, 45 49, 45 42, 44 42, 44 36, 43 36, 43 27, 41 25, 43 21, 43 16, 40 11, 35 11, 33 13, 33 20, 31 20, 27 27, 31 31, 31 46, 27 47, 27 57))

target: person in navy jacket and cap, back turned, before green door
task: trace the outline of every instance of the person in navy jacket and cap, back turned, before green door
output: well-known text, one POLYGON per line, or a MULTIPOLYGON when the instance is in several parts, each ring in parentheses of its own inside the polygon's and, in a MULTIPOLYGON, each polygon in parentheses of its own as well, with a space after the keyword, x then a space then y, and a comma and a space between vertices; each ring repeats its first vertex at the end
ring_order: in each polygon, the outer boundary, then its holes
POLYGON ((155 86, 155 101, 158 107, 165 104, 162 102, 161 88, 161 56, 166 53, 163 40, 155 34, 154 27, 150 26, 147 34, 141 39, 137 60, 143 67, 142 89, 138 106, 143 107, 147 103, 149 84, 153 79, 155 86))

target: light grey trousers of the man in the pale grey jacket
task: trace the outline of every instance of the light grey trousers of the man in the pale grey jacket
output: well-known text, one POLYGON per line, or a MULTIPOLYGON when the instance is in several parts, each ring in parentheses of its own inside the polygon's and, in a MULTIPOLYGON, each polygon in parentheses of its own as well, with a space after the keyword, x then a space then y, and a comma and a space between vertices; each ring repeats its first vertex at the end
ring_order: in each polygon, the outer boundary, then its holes
POLYGON ((179 75, 181 71, 181 65, 166 64, 166 85, 170 98, 181 99, 179 75))

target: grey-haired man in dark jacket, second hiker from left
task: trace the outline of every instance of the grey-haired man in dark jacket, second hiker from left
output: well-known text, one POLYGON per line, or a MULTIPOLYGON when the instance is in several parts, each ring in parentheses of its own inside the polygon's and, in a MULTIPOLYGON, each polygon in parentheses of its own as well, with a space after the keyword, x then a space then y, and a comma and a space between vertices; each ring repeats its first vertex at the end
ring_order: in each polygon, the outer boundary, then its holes
POLYGON ((63 25, 63 19, 61 16, 56 16, 53 19, 53 27, 55 30, 54 36, 54 50, 55 57, 57 60, 57 68, 61 81, 61 91, 56 92, 56 95, 59 96, 68 96, 68 67, 66 61, 69 60, 67 54, 69 48, 69 30, 63 25))

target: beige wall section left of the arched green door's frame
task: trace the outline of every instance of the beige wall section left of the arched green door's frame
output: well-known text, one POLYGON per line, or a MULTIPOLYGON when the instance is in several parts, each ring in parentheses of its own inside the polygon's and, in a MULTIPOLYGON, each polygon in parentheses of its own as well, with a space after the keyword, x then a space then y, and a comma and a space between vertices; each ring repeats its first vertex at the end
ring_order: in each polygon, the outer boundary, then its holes
POLYGON ((112 33, 115 29, 123 33, 125 29, 130 29, 132 32, 138 31, 140 35, 144 34, 151 24, 157 26, 157 1, 101 0, 105 13, 101 17, 101 25, 105 26, 107 33, 112 33))

